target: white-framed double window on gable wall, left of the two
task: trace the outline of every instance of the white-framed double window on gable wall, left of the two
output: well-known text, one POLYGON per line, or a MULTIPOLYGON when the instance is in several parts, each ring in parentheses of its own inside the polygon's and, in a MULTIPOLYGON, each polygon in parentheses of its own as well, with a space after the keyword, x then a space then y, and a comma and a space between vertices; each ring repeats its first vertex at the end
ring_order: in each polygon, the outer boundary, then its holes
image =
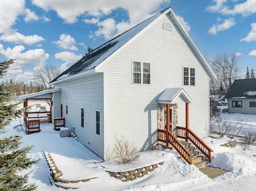
POLYGON ((132 83, 151 83, 151 63, 143 61, 132 61, 132 83))

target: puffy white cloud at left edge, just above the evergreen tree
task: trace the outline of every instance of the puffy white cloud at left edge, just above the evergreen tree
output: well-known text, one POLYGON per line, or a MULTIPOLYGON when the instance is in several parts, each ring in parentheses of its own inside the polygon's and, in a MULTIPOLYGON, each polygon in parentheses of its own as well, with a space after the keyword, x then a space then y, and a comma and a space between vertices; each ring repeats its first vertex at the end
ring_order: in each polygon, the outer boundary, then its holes
POLYGON ((4 49, 0 44, 0 53, 6 57, 6 60, 16 59, 15 63, 19 65, 36 65, 42 66, 49 58, 49 54, 45 53, 43 49, 34 49, 23 52, 25 47, 23 45, 15 46, 13 49, 10 47, 4 49))

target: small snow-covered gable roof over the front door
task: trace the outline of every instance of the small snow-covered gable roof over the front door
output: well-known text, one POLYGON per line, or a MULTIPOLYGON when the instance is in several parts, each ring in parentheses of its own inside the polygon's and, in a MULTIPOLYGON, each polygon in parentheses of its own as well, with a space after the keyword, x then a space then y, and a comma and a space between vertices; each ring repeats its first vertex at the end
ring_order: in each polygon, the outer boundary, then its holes
POLYGON ((157 102, 164 104, 173 104, 180 95, 182 95, 182 97, 186 100, 187 103, 192 103, 192 99, 183 88, 165 89, 163 93, 158 97, 157 102))

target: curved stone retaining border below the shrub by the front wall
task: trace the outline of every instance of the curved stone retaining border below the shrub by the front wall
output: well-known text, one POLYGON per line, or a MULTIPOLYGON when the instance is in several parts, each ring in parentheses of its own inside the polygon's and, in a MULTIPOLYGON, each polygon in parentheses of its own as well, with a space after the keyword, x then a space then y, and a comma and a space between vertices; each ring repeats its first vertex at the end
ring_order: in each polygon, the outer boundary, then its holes
POLYGON ((158 167, 159 165, 162 165, 164 162, 148 165, 145 167, 140 167, 136 168, 133 170, 129 171, 124 171, 124 172, 109 172, 110 176, 115 177, 116 179, 119 179, 123 182, 128 182, 128 181, 134 181, 137 178, 141 178, 144 175, 148 174, 148 172, 152 172, 155 168, 158 167))

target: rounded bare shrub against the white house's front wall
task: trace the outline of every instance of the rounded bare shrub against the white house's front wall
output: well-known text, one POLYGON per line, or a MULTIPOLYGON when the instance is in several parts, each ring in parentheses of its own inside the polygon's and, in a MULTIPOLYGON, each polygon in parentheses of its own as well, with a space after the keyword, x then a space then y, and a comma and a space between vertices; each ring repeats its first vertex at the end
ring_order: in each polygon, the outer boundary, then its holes
POLYGON ((129 142, 128 138, 124 135, 121 135, 120 139, 118 139, 115 134, 114 138, 116 140, 114 144, 114 155, 118 163, 133 163, 139 159, 140 154, 134 142, 129 142))

